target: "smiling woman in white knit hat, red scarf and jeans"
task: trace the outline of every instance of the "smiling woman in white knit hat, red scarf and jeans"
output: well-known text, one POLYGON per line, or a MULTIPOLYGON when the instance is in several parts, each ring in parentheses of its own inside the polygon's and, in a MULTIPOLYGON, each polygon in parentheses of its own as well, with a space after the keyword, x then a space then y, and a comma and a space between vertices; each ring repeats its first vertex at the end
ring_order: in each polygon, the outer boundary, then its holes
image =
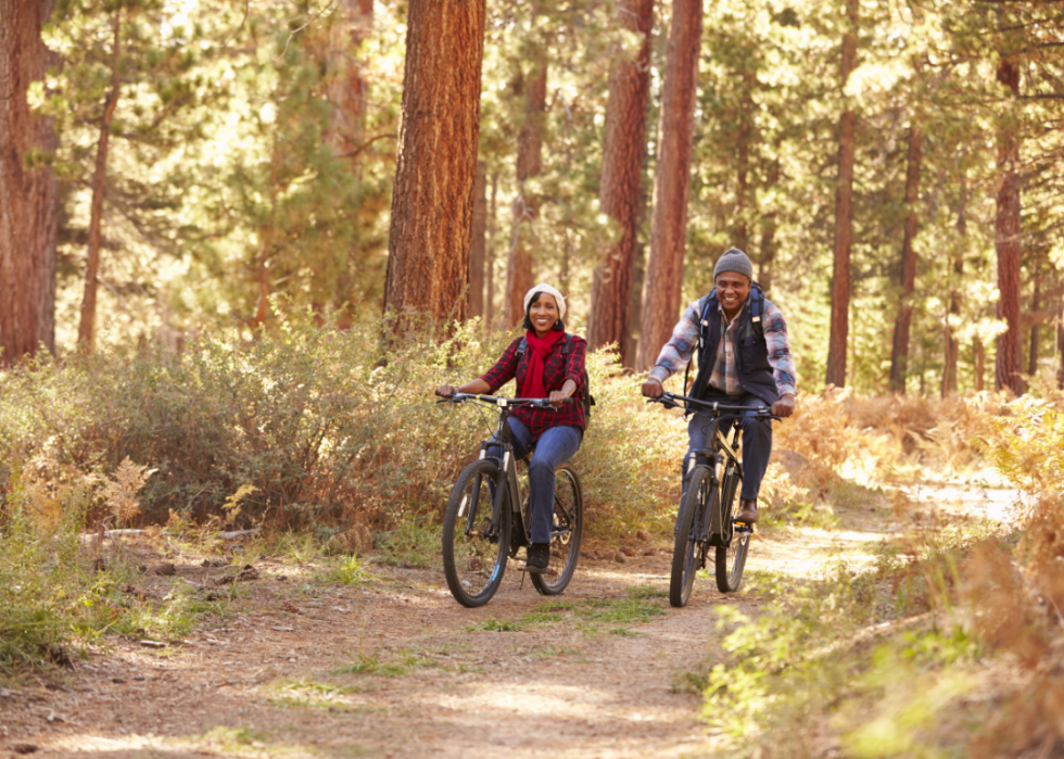
POLYGON ((459 393, 494 395, 517 378, 517 397, 546 397, 554 408, 519 406, 508 421, 520 447, 535 444, 529 466, 529 508, 532 511, 532 545, 524 569, 543 572, 550 561, 550 528, 554 520, 554 473, 580 448, 586 420, 581 403, 587 343, 579 336, 566 338, 566 299, 549 284, 536 284, 524 296, 524 337, 509 344, 486 375, 455 388, 440 385, 439 395, 459 393), (521 342, 528 349, 523 352, 521 342), (573 397, 569 405, 562 405, 573 397))

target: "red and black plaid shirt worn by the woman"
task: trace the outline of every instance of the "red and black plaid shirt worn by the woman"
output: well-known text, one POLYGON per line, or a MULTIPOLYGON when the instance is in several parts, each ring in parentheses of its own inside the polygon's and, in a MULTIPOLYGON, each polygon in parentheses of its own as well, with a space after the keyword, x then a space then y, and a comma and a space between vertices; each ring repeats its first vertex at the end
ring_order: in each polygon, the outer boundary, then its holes
MULTIPOLYGON (((517 377, 517 390, 514 391, 514 397, 522 397, 521 387, 524 384, 524 375, 529 368, 529 354, 532 352, 532 349, 525 346, 524 353, 518 355, 517 349, 521 344, 521 340, 523 340, 523 337, 511 342, 506 351, 503 352, 503 357, 495 362, 495 366, 486 375, 481 377, 482 380, 487 382, 487 387, 491 388, 489 392, 492 395, 497 393, 498 389, 504 384, 517 377)), ((555 390, 561 390, 561 385, 565 384, 566 380, 571 379, 577 383, 577 389, 572 393, 573 402, 568 406, 561 406, 557 410, 519 406, 511 414, 515 419, 529 428, 529 431, 532 433, 532 442, 537 441, 540 435, 552 427, 575 427, 580 430, 584 429, 584 406, 582 400, 587 390, 583 387, 584 383, 581 381, 581 376, 584 371, 584 356, 587 352, 587 342, 579 334, 572 336, 569 342, 571 343, 571 347, 567 354, 561 353, 566 346, 566 338, 556 342, 550 350, 550 354, 543 365, 543 387, 547 389, 547 393, 550 393, 555 390)))

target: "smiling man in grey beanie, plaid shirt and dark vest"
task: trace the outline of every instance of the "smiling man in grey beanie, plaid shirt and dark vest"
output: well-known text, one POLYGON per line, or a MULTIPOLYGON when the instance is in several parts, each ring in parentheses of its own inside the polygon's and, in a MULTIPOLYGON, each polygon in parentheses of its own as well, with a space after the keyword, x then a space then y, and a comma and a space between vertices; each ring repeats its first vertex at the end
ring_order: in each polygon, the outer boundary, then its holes
MULTIPOLYGON (((733 406, 771 406, 776 416, 790 416, 795 410, 795 364, 783 313, 761 296, 763 331, 758 329, 750 298, 753 265, 737 248, 717 262, 713 280, 717 289, 692 303, 680 317, 643 383, 643 394, 661 397, 661 383, 687 366, 701 340, 692 397, 733 406)), ((684 472, 695 452, 706 447, 709 422, 709 415, 704 413, 691 418, 684 472)), ((744 478, 735 519, 752 524, 758 520, 758 492, 772 453, 772 422, 744 415, 742 425, 744 478)))

